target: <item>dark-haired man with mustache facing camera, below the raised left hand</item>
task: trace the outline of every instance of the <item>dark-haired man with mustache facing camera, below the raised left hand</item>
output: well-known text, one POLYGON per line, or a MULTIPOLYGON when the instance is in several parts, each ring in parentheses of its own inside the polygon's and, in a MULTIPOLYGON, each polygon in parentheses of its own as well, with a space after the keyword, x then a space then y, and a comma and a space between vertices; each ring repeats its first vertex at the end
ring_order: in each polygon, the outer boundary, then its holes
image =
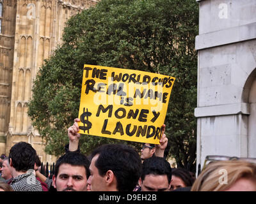
POLYGON ((55 166, 52 184, 57 191, 86 191, 90 161, 79 152, 61 156, 55 166))

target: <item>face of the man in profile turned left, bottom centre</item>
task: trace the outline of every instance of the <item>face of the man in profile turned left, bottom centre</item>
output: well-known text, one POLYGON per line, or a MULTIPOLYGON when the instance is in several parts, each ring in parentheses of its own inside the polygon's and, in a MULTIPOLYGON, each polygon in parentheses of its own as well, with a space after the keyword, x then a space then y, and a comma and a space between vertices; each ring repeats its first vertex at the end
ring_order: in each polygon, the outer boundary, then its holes
POLYGON ((95 166, 95 162, 97 161, 98 157, 99 154, 92 158, 92 162, 89 168, 91 175, 87 181, 87 184, 90 187, 91 191, 106 191, 106 186, 104 185, 104 177, 99 175, 99 170, 95 166))

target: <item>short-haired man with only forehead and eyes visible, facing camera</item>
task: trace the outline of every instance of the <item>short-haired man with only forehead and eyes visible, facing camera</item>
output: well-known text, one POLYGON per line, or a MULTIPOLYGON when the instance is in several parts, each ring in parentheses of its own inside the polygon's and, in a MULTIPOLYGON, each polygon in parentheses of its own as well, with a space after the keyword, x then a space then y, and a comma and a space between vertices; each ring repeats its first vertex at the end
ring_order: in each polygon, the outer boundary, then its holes
POLYGON ((150 157, 142 164, 141 191, 168 191, 172 180, 172 168, 163 157, 150 157))

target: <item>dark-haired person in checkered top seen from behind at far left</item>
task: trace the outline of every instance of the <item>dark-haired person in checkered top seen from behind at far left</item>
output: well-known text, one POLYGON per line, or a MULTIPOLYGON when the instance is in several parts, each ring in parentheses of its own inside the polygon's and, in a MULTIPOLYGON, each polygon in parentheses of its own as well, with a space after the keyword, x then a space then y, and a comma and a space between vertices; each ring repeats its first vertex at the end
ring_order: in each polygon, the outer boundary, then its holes
POLYGON ((36 150, 29 143, 19 142, 10 149, 9 164, 13 177, 10 186, 14 191, 42 191, 34 174, 35 158, 36 150))

